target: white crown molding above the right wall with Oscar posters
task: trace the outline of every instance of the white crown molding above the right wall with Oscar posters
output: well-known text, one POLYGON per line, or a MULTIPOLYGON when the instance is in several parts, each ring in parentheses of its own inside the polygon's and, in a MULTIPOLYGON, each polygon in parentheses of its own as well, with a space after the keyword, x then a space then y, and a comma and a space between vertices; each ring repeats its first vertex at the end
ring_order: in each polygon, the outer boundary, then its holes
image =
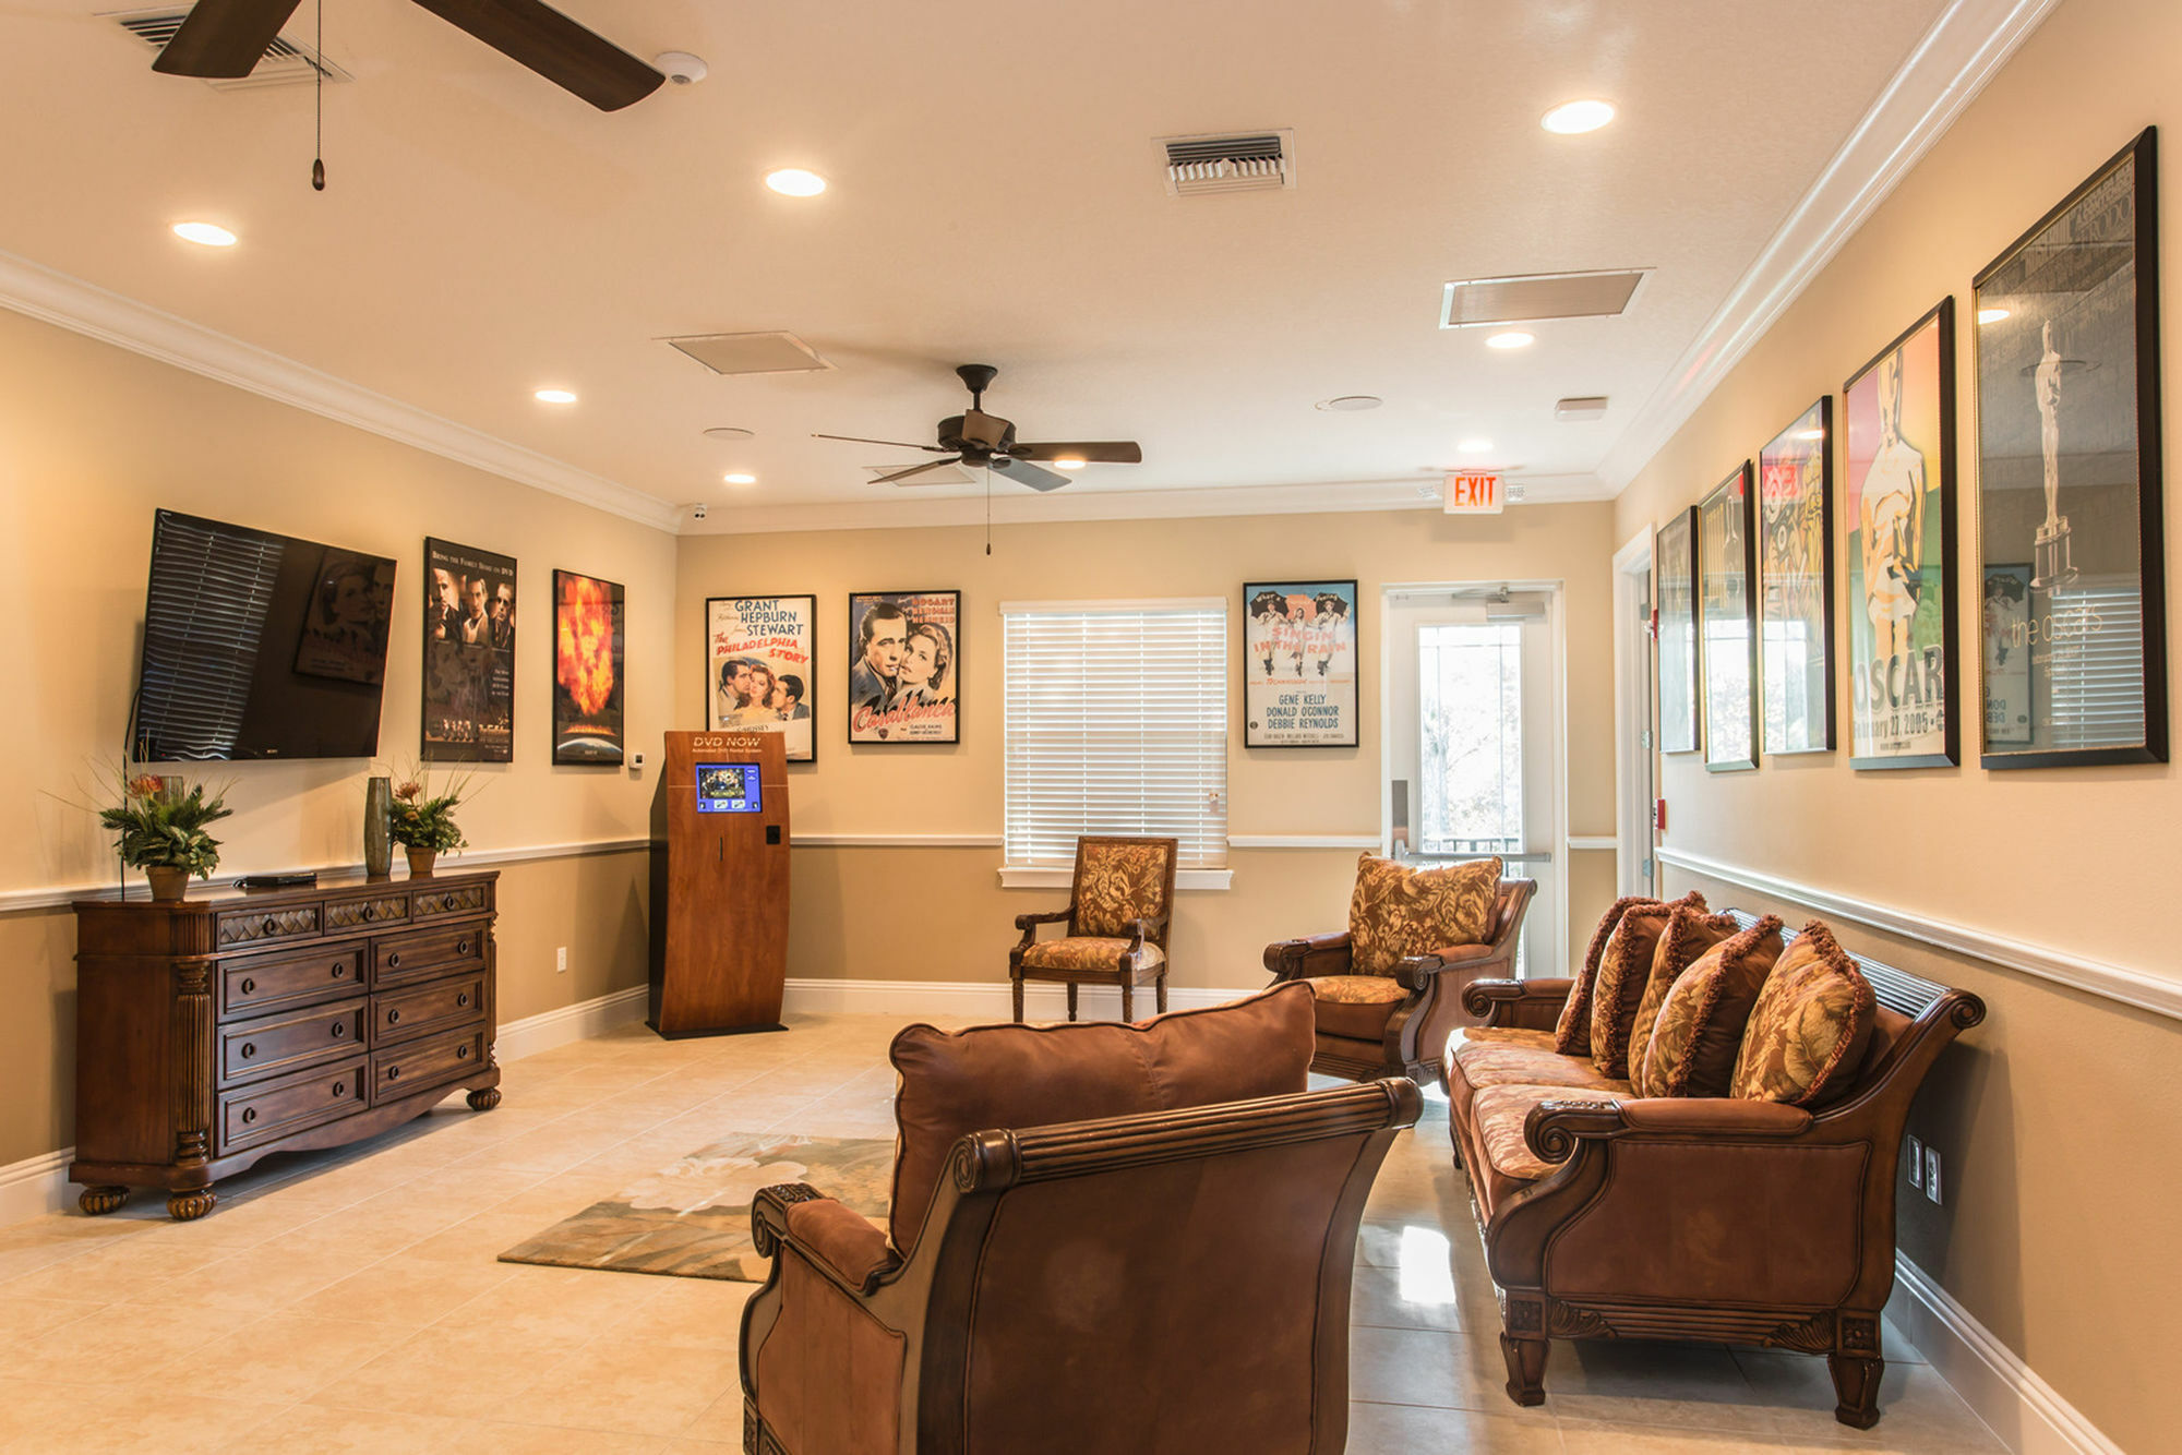
POLYGON ((1599 460, 1619 495, 2060 0, 1953 0, 1599 460))

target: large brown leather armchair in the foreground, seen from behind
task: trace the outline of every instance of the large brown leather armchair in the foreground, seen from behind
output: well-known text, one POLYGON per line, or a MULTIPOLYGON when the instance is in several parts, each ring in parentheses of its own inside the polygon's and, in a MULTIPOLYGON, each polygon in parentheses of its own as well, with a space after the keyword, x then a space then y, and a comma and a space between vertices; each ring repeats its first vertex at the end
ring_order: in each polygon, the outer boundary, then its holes
POLYGON ((1309 1058, 1294 986, 901 1032, 888 1228, 751 1206, 744 1451, 1340 1455, 1364 1200, 1420 1097, 1303 1091, 1309 1058))

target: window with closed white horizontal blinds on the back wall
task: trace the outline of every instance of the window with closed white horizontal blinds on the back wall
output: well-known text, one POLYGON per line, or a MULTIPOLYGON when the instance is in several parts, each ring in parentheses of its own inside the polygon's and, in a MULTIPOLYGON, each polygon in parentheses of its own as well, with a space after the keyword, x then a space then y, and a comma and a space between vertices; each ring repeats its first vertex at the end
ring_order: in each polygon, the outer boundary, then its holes
POLYGON ((1226 866, 1228 604, 1002 602, 1008 864, 1084 833, 1180 840, 1226 866))

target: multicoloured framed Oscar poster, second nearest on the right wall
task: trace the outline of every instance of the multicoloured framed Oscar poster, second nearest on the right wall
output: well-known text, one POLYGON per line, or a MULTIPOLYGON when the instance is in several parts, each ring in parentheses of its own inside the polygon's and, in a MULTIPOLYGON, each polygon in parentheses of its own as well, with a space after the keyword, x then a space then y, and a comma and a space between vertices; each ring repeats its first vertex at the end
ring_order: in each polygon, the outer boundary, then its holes
MULTIPOLYGON (((1887 347, 1874 353, 1861 369, 1848 375, 1842 386, 1842 578, 1848 585, 1848 766, 1857 770, 1896 768, 1957 768, 1962 766, 1962 668, 1955 646, 1962 641, 1959 606, 1955 589, 1955 299, 1940 299, 1925 310, 1916 323, 1896 334, 1887 347), (1925 338, 1931 336, 1931 362, 1925 366, 1925 338), (1909 373, 1918 364, 1916 375, 1909 373), (1885 382, 1894 380, 1894 438, 1905 445, 1918 471, 1927 471, 1938 460, 1938 484, 1927 484, 1916 497, 1916 580, 1905 572, 1894 572, 1892 589, 1874 596, 1866 582, 1866 495, 1870 473, 1887 449, 1885 382), (1916 399, 1909 401, 1907 395, 1916 399), (1927 419, 1929 417, 1929 419, 1927 419), (1907 423, 1905 423, 1907 419, 1907 423), (1872 434, 1879 438, 1870 438, 1872 434), (1929 497, 1929 504, 1925 504, 1929 497), (1929 515, 1938 510, 1938 532, 1929 515), (1929 548, 1938 541, 1938 558, 1929 548), (1879 654, 1879 622, 1887 617, 1887 600, 1911 598, 1909 613, 1896 613, 1894 630, 1903 633, 1914 661, 1896 665, 1898 652, 1879 654), (1859 617, 1861 609, 1861 617, 1859 617), (1918 628, 1935 633, 1922 648, 1916 644, 1918 628), (1933 657, 1938 652, 1938 657, 1933 657), (1905 683, 1914 676, 1922 687, 1911 692, 1905 683), (1901 729, 1905 716, 1933 707, 1933 681, 1938 678, 1940 724, 1922 722, 1918 731, 1901 729), (1879 716, 1879 692, 1887 694, 1887 718, 1879 716), (1896 748, 1883 748, 1885 733, 1914 737, 1896 748)), ((1896 469, 1896 473, 1901 473, 1896 469)), ((1901 491, 1892 491, 1901 493, 1901 491)), ((1877 519, 1877 515, 1874 515, 1877 519)), ((1896 532, 1898 534, 1898 532, 1896 532)))

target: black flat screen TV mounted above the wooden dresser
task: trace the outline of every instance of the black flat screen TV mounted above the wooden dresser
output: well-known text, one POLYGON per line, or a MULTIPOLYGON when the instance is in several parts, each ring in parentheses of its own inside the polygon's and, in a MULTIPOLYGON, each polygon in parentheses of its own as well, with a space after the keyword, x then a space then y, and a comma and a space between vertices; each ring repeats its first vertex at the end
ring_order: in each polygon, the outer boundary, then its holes
POLYGON ((159 510, 137 761, 371 757, 395 563, 159 510))

